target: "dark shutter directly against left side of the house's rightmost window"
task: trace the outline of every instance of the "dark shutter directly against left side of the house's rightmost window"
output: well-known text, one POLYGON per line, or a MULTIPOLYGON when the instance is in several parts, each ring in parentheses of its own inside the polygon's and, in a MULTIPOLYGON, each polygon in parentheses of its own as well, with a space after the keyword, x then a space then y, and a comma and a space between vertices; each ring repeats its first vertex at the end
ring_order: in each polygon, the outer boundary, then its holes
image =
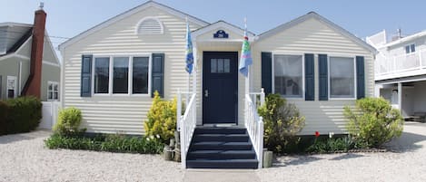
POLYGON ((327 54, 318 55, 319 79, 320 79, 320 101, 329 100, 329 81, 328 81, 328 65, 327 54))

